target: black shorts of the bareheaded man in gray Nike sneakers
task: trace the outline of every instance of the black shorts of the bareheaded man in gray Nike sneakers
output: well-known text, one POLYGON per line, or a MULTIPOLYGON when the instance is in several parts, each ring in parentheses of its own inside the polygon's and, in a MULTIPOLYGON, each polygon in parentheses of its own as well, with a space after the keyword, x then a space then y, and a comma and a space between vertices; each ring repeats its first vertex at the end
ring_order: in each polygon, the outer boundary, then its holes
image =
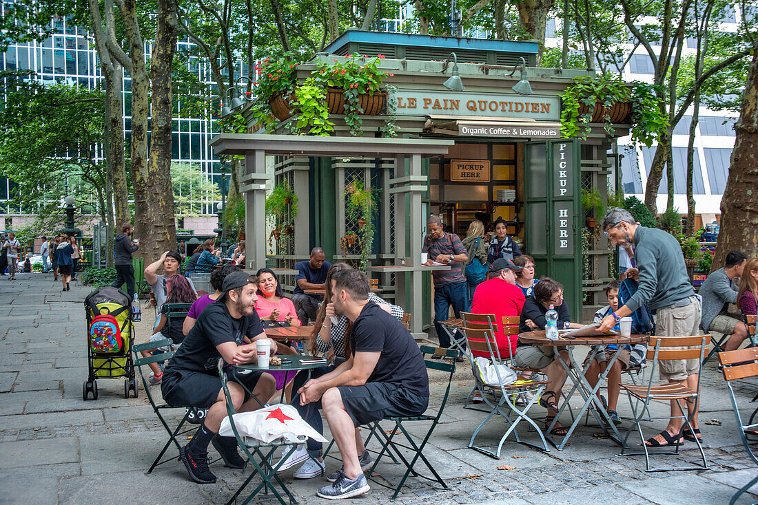
POLYGON ((428 396, 420 396, 388 382, 366 382, 362 386, 339 386, 337 389, 356 428, 385 417, 419 416, 429 406, 428 396))

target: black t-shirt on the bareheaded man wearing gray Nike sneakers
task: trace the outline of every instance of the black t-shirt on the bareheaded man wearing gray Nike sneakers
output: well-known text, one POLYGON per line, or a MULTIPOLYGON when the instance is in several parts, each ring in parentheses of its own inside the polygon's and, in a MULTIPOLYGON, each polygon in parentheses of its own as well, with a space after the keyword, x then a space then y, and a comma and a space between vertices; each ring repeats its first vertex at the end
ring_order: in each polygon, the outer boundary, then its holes
POLYGON ((352 325, 350 348, 353 356, 356 351, 381 351, 367 382, 389 382, 429 396, 429 376, 421 350, 406 327, 373 301, 363 307, 352 325))

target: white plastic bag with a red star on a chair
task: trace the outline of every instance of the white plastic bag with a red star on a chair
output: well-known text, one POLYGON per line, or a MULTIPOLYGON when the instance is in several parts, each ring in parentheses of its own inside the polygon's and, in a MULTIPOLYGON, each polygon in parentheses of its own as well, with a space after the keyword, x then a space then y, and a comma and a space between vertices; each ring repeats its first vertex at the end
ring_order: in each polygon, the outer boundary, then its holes
MULTIPOLYGON (((237 432, 240 432, 243 437, 255 438, 255 440, 265 444, 279 438, 298 444, 308 438, 313 438, 319 442, 327 441, 300 417, 292 405, 276 404, 252 412, 236 413, 234 414, 234 425, 237 432)), ((228 416, 221 421, 218 435, 222 437, 234 436, 228 416)))

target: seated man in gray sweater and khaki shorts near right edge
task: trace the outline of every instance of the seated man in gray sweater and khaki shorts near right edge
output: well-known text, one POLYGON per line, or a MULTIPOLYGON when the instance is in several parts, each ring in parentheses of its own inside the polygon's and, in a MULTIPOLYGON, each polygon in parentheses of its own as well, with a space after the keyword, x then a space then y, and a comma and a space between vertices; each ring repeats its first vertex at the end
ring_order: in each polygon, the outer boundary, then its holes
POLYGON ((737 303, 739 291, 732 279, 742 276, 745 263, 747 263, 746 254, 741 251, 730 251, 726 255, 724 268, 711 273, 698 291, 698 295, 703 297, 703 317, 700 319, 700 328, 705 332, 728 335, 724 351, 735 351, 748 334, 747 325, 727 312, 729 304, 737 303))

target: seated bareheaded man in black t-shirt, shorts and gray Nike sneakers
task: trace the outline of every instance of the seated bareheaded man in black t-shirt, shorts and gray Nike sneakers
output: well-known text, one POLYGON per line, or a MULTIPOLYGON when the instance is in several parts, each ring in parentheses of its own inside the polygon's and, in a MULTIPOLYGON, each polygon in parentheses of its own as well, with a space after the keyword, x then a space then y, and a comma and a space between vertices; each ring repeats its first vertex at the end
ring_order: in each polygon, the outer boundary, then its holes
POLYGON ((358 426, 389 416, 417 416, 429 404, 424 357, 411 334, 393 316, 368 301, 362 272, 334 273, 332 302, 337 315, 352 321, 348 360, 333 372, 299 389, 300 403, 321 401, 329 429, 340 448, 343 469, 318 496, 335 499, 368 491, 361 470, 358 426))

